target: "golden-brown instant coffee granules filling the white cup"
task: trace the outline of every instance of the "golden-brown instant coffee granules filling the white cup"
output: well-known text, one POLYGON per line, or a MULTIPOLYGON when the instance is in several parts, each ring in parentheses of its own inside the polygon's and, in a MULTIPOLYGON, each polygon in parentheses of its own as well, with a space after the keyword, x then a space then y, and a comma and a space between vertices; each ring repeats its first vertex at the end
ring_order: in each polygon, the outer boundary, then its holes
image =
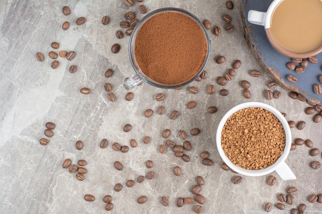
POLYGON ((234 165, 244 169, 264 169, 283 154, 285 131, 272 112, 249 107, 228 118, 221 142, 227 158, 234 165))

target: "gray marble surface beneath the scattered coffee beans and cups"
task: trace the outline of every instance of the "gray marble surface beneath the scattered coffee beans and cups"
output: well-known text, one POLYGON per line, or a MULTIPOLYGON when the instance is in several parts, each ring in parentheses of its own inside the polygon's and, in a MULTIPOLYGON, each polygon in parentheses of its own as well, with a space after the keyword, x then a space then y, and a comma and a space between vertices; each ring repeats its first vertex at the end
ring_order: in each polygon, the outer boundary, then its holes
MULTIPOLYGON (((299 204, 307 205, 307 213, 322 213, 322 204, 308 202, 308 196, 322 193, 321 169, 313 170, 312 161, 322 161, 321 153, 316 157, 309 155, 310 148, 298 146, 291 151, 287 163, 297 176, 293 181, 282 181, 275 172, 262 177, 246 177, 235 185, 232 179, 236 176, 231 171, 221 169, 222 160, 216 148, 216 129, 222 116, 231 107, 247 102, 267 103, 280 112, 287 113, 287 120, 306 121, 303 130, 292 130, 293 139, 310 139, 315 148, 322 150, 321 123, 312 121, 313 115, 306 115, 306 102, 292 100, 288 91, 279 86, 280 99, 267 101, 264 92, 270 78, 262 72, 261 77, 249 75, 251 70, 261 71, 255 57, 249 50, 243 35, 240 18, 239 1, 233 1, 235 7, 228 10, 225 1, 152 1, 134 2, 129 8, 123 1, 2 1, 0 3, 0 213, 194 213, 193 205, 176 206, 178 197, 193 197, 191 188, 196 184, 196 177, 202 176, 205 185, 201 193, 206 198, 202 213, 265 213, 267 202, 274 204, 272 213, 290 213, 291 208, 299 204), (182 90, 158 89, 142 84, 131 91, 132 101, 126 101, 123 80, 134 70, 128 56, 129 36, 118 40, 115 31, 120 30, 119 22, 123 14, 134 11, 140 19, 144 15, 138 6, 144 4, 148 12, 162 7, 178 7, 195 14, 200 20, 208 19, 212 25, 222 28, 216 37, 208 30, 211 40, 211 55, 206 67, 208 77, 201 82, 193 82, 182 90), (71 14, 62 14, 62 7, 69 6, 71 14), (227 33, 223 14, 232 17, 235 31, 227 33), (110 23, 101 24, 104 15, 110 16, 110 23), (76 18, 84 16, 83 25, 75 24, 76 18), (63 22, 70 22, 70 28, 62 30, 63 22), (74 50, 76 57, 67 61, 58 57, 60 65, 51 69, 52 60, 48 52, 53 49, 51 42, 58 42, 60 50, 74 50), (119 43, 121 49, 117 54, 111 53, 111 46, 119 43), (38 62, 35 53, 43 52, 44 62, 38 62), (216 64, 214 58, 226 56, 226 62, 216 64), (237 70, 234 80, 223 87, 216 83, 235 60, 242 65, 237 70), (77 65, 75 73, 69 73, 70 65, 77 65), (114 74, 104 77, 106 69, 112 68, 114 74), (252 98, 244 98, 240 82, 251 83, 249 90, 252 98), (103 85, 111 83, 117 100, 110 102, 106 97, 103 85), (209 95, 206 88, 209 84, 216 86, 216 93, 209 95), (188 92, 190 86, 198 87, 198 94, 188 92), (88 95, 81 94, 82 87, 91 89, 88 95), (222 88, 229 90, 228 96, 221 96, 222 88), (154 96, 164 93, 165 100, 156 102, 154 96), (195 101, 196 107, 187 109, 189 101, 195 101), (156 113, 158 106, 163 105, 163 115, 156 113), (209 114, 207 108, 217 106, 218 112, 209 114), (144 111, 152 109, 154 114, 145 118, 144 111), (176 120, 170 120, 173 110, 180 111, 176 120), (49 139, 47 146, 39 144, 45 137, 45 123, 56 124, 55 135, 49 139), (130 132, 123 132, 125 124, 131 124, 130 132), (201 133, 191 136, 190 130, 198 127, 201 133), (178 144, 178 130, 185 130, 192 149, 186 153, 189 162, 176 158, 173 152, 165 154, 158 147, 165 143, 161 133, 169 128, 170 139, 178 144), (142 138, 149 135, 151 143, 145 145, 142 138), (99 147, 100 141, 106 138, 109 146, 99 147), (130 140, 135 139, 137 147, 130 147, 130 140), (84 148, 77 150, 75 143, 84 142, 84 148), (112 150, 112 144, 119 142, 128 145, 129 152, 121 153, 112 150), (212 166, 204 166, 199 154, 210 152, 212 166), (65 159, 73 163, 84 159, 87 161, 84 181, 78 181, 75 173, 71 174, 62 168, 65 159), (145 166, 152 160, 153 168, 145 166), (118 171, 113 163, 120 161, 124 168, 118 171), (182 175, 177 177, 173 168, 180 166, 182 175), (135 183, 131 188, 125 185, 129 179, 136 180, 145 176, 150 170, 155 177, 143 183, 135 183), (267 179, 277 177, 274 186, 267 185, 267 179), (123 184, 123 189, 114 191, 114 185, 123 184), (285 210, 278 210, 279 193, 287 193, 288 188, 295 186, 298 194, 295 204, 285 203, 285 210), (84 194, 93 194, 96 200, 86 202, 84 194), (112 211, 104 209, 102 198, 111 194, 114 204, 112 211), (137 198, 145 195, 148 201, 138 204, 137 198), (168 207, 160 203, 160 198, 167 196, 168 207)), ((124 30, 123 30, 124 32, 124 30)), ((57 52, 58 52, 57 51, 57 52)), ((322 59, 319 59, 322 60, 322 59)))

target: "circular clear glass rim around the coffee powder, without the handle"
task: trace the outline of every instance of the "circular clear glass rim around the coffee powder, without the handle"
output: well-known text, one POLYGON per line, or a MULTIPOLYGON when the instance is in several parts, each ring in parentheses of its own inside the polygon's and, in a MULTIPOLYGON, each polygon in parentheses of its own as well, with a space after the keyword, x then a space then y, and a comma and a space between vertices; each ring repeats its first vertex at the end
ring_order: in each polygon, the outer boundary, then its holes
POLYGON ((209 40, 208 33, 207 33, 205 27, 203 26, 203 24, 201 23, 201 21, 198 19, 198 17, 196 17, 195 15, 190 13, 189 11, 186 11, 186 10, 181 9, 181 8, 174 8, 174 7, 160 8, 160 9, 157 9, 157 10, 154 10, 154 11, 148 13, 134 27, 133 32, 132 32, 132 34, 130 36, 130 41, 129 41, 129 56, 130 56, 130 61, 131 61, 132 67, 135 70, 135 73, 138 74, 141 77, 142 80, 144 80, 147 83, 149 83, 150 85, 153 85, 153 86, 158 87, 158 88, 168 88, 168 89, 180 88, 180 87, 185 86, 185 85, 191 83, 192 81, 194 81, 204 71, 204 69, 205 69, 205 67, 207 65, 207 62, 209 60, 209 56, 210 56, 210 40, 209 40), (153 81, 153 80, 149 79, 146 75, 144 75, 142 73, 142 71, 140 69, 136 68, 135 56, 132 55, 132 52, 133 52, 132 46, 134 45, 135 36, 136 36, 138 30, 140 29, 140 26, 142 26, 154 14, 162 13, 162 12, 181 12, 181 13, 189 16, 190 18, 192 18, 201 27, 201 29, 204 32, 204 35, 206 37, 207 54, 206 54, 205 61, 204 61, 203 65, 202 65, 202 67, 200 68, 200 70, 190 80, 188 80, 188 81, 186 81, 184 83, 181 83, 181 84, 177 84, 177 85, 164 85, 164 84, 160 84, 160 83, 157 83, 156 81, 153 81))

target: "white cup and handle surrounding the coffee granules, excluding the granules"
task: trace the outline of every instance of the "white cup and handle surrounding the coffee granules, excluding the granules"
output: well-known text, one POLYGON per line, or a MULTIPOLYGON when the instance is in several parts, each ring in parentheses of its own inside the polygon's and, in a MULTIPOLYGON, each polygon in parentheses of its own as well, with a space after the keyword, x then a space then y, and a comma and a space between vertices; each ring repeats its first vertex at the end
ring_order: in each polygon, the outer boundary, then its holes
POLYGON ((232 170, 243 174, 245 176, 264 176, 265 174, 269 174, 273 171, 276 171, 277 174, 281 177, 282 180, 287 181, 287 180, 295 180, 295 174, 293 171, 290 169, 290 167, 285 163, 285 159, 288 157, 288 154, 291 150, 291 144, 292 144, 292 137, 291 137, 291 129, 290 126, 287 122, 287 120, 284 118, 284 116, 274 107, 264 104, 264 103, 259 103, 259 102, 248 102, 248 103, 242 103, 240 105, 235 106, 234 108, 230 109, 221 119, 218 129, 217 129, 217 134, 216 134, 216 143, 217 143, 217 148, 219 151, 219 154, 223 161, 229 166, 232 170), (277 161, 264 169, 258 169, 258 170, 249 170, 249 169, 244 169, 239 166, 234 165, 225 155, 224 150, 222 149, 221 146, 221 133, 223 130, 223 127, 229 118, 230 115, 234 114, 236 111, 248 108, 248 107, 261 107, 263 109, 271 111, 281 122, 283 125, 283 128, 285 130, 285 147, 283 154, 277 159, 277 161))

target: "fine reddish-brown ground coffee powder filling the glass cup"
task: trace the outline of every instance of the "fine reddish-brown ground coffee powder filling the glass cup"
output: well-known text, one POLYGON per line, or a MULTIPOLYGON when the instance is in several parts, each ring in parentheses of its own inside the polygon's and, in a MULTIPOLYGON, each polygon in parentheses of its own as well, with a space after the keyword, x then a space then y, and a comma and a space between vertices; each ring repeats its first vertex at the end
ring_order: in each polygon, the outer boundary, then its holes
POLYGON ((141 71, 150 79, 177 85, 192 79, 204 64, 206 36, 185 14, 158 13, 139 29, 134 54, 141 71))

